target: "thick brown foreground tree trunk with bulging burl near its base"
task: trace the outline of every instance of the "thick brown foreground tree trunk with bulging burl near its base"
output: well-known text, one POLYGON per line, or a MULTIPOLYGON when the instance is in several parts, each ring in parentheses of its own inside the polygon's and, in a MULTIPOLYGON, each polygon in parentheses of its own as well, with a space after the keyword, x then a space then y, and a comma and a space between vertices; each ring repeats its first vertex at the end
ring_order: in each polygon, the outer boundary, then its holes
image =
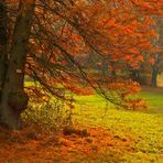
POLYGON ((28 95, 23 90, 28 42, 34 13, 34 0, 21 0, 19 17, 13 31, 11 58, 2 89, 1 123, 11 129, 21 129, 21 111, 26 109, 28 95))

